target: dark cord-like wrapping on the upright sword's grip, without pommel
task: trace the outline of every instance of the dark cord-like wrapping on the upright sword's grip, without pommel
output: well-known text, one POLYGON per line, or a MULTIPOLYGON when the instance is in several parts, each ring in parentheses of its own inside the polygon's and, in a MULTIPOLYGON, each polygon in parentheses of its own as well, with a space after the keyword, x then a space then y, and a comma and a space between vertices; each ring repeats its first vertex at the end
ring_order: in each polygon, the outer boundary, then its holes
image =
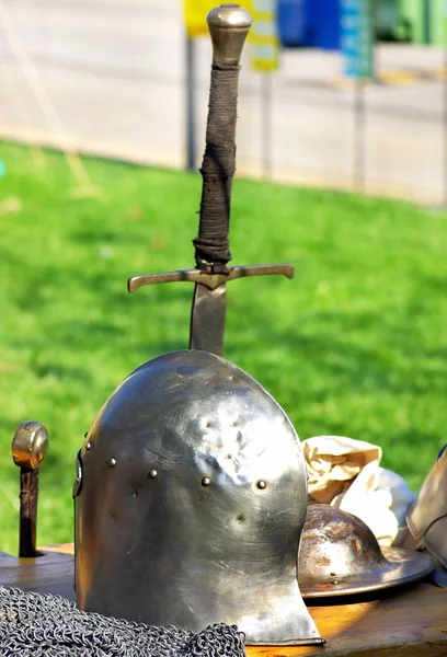
POLYGON ((198 238, 193 243, 199 269, 225 270, 231 260, 228 231, 231 185, 236 171, 236 120, 239 65, 214 64, 206 149, 202 163, 198 238))

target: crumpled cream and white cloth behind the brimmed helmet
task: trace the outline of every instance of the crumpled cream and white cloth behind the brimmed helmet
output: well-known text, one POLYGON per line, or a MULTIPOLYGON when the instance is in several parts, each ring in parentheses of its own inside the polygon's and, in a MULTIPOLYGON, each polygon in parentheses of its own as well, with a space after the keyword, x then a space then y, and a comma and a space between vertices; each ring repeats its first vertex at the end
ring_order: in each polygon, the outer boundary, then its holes
POLYGON ((354 514, 380 545, 405 541, 405 511, 415 495, 399 474, 380 468, 380 447, 344 436, 316 436, 301 446, 311 500, 354 514))

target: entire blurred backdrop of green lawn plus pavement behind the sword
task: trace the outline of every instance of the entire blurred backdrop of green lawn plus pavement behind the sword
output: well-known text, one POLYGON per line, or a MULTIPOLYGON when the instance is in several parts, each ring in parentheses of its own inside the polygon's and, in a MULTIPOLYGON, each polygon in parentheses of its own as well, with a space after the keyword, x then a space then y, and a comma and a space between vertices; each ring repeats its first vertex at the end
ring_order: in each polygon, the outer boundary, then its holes
MULTIPOLYGON (((0 550, 20 423, 49 434, 38 542, 72 541, 74 457, 116 385, 187 348, 210 0, 0 0, 0 550)), ((379 445, 414 492, 446 442, 447 8, 247 0, 225 356, 301 439, 379 445)))

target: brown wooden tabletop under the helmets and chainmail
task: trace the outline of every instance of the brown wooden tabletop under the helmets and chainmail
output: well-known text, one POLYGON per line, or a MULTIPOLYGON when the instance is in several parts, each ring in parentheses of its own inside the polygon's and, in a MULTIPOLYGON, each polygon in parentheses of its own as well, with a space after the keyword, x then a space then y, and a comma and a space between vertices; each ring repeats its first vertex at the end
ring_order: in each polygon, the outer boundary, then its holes
MULTIPOLYGON (((35 560, 0 553, 0 584, 73 600, 72 544, 44 550, 35 560)), ((324 647, 248 647, 248 657, 447 657, 447 589, 422 583, 309 611, 324 647)))

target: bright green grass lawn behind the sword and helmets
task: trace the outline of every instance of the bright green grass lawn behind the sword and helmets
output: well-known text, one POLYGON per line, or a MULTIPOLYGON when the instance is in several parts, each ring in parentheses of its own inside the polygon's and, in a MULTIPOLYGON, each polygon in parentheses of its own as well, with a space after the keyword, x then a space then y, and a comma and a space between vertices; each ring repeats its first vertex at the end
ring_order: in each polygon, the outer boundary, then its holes
MULTIPOLYGON (((0 549, 16 551, 16 426, 38 419, 41 544, 72 540, 73 460, 113 389, 187 346, 192 287, 134 296, 131 274, 193 266, 198 175, 87 160, 101 191, 72 195, 64 159, 3 145, 0 181, 0 549)), ((405 203, 236 181, 234 264, 291 262, 293 281, 228 286, 225 355, 277 399, 301 439, 369 440, 422 483, 446 441, 447 216, 405 203)))

